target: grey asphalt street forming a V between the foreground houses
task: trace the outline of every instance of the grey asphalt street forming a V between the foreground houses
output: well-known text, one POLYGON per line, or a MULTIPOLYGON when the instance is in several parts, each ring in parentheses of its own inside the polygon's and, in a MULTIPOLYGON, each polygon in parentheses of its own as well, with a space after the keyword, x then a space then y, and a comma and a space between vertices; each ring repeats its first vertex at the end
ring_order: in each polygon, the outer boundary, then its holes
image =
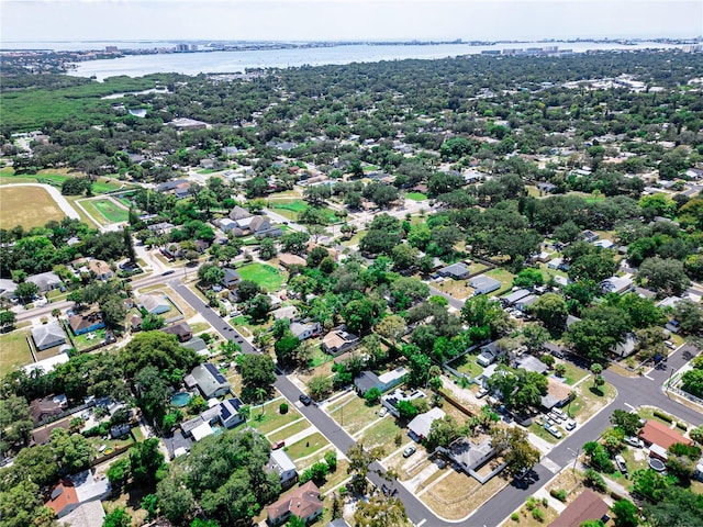
MULTIPOLYGON (((188 302, 196 311, 201 313, 208 323, 210 323, 210 325, 224 338, 234 338, 238 335, 238 333, 230 326, 226 321, 208 307, 200 298, 198 298, 198 295, 180 283, 179 280, 170 280, 169 284, 176 289, 186 302, 188 302)), ((242 349, 247 354, 257 351, 256 348, 246 340, 242 344, 242 349)), ((685 360, 688 360, 683 358, 683 354, 687 351, 693 355, 696 354, 695 348, 691 346, 682 346, 669 357, 669 369, 652 370, 647 377, 631 379, 605 371, 605 379, 618 391, 615 401, 603 408, 588 423, 578 427, 566 439, 559 442, 559 445, 557 445, 545 458, 543 458, 542 462, 534 468, 534 476, 531 482, 512 482, 464 520, 448 522, 437 517, 422 501, 408 491, 402 484, 395 484, 394 489, 398 490, 398 497, 400 497, 405 505, 408 517, 415 525, 423 524, 431 527, 453 527, 457 525, 473 527, 499 525, 513 511, 524 504, 527 496, 534 494, 538 489, 546 485, 560 469, 573 463, 583 444, 598 439, 603 428, 609 426, 610 416, 615 408, 628 411, 632 410, 632 407, 639 405, 652 405, 658 406, 670 414, 677 415, 692 425, 701 425, 703 423, 703 415, 668 399, 666 393, 661 391, 661 385, 671 374, 671 368, 678 369, 685 363, 685 360), (632 405, 632 407, 628 405, 632 405)), ((299 407, 300 412, 341 451, 346 452, 349 447, 355 444, 354 439, 346 433, 346 430, 342 429, 342 427, 322 410, 314 405, 302 406, 298 399, 302 392, 287 377, 277 374, 275 386, 291 404, 299 407)), ((371 469, 379 470, 380 466, 373 464, 371 469)), ((379 487, 382 483, 386 483, 384 480, 373 472, 369 473, 369 479, 379 487)), ((469 506, 467 506, 467 508, 469 508, 469 506)))

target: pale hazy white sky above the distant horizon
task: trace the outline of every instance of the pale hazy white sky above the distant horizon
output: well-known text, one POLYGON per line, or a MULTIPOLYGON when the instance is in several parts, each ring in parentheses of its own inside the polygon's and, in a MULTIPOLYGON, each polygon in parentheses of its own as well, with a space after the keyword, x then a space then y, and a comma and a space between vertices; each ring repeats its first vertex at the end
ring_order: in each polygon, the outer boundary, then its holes
POLYGON ((2 41, 703 35, 701 0, 0 0, 2 41))

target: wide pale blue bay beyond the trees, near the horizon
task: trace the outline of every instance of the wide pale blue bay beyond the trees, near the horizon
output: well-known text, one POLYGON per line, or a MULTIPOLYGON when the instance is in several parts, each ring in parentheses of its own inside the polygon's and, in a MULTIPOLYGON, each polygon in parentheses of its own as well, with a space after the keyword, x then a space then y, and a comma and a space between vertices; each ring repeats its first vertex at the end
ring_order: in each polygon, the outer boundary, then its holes
POLYGON ((287 68, 297 66, 321 66, 326 64, 375 63, 402 60, 408 58, 435 59, 476 55, 486 51, 520 49, 528 47, 558 46, 559 51, 576 53, 612 49, 668 49, 682 47, 672 44, 638 42, 635 45, 617 43, 522 43, 494 46, 472 46, 470 44, 437 45, 348 45, 334 47, 309 47, 291 49, 257 49, 241 52, 174 53, 155 55, 129 55, 121 58, 88 60, 78 63, 69 75, 108 77, 125 75, 142 77, 156 72, 234 74, 252 68, 287 68))

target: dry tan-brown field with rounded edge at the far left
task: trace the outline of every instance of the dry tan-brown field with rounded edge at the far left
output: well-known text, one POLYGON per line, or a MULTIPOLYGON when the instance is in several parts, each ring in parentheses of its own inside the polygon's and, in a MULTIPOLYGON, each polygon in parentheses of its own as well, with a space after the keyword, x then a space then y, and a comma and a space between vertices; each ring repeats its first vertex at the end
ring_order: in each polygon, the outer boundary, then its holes
POLYGON ((22 225, 25 229, 60 221, 64 212, 51 194, 38 187, 0 187, 0 228, 22 225), (30 206, 31 204, 31 206, 30 206))

